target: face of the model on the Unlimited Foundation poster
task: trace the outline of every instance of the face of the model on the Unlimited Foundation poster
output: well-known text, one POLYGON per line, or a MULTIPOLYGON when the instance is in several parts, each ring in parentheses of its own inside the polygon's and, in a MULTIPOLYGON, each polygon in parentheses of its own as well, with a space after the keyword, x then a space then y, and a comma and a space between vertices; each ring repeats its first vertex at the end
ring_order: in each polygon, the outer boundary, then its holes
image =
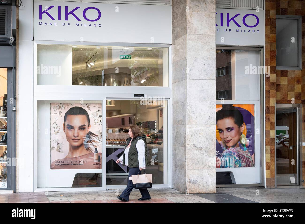
POLYGON ((69 149, 76 149, 84 146, 84 140, 91 125, 87 121, 85 115, 67 115, 66 121, 63 123, 63 131, 66 134, 66 139, 69 143, 69 149))

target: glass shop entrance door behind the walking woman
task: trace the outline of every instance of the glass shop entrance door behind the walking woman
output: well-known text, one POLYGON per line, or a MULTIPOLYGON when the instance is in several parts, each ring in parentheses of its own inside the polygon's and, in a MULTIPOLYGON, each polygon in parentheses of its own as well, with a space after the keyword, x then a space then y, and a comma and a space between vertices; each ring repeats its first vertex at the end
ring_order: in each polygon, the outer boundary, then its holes
POLYGON ((153 184, 167 184, 167 101, 107 100, 106 106, 106 183, 126 185, 128 168, 117 164, 124 153, 130 125, 138 125, 147 147, 146 173, 153 184))

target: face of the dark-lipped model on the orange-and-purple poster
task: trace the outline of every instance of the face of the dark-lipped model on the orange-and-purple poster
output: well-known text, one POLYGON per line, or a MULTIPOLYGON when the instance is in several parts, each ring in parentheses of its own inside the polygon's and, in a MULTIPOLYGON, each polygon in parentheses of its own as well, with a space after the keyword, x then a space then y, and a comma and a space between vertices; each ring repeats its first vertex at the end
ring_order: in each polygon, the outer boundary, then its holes
POLYGON ((226 117, 217 121, 219 136, 227 147, 238 146, 240 136, 244 129, 245 124, 242 124, 239 127, 231 117, 226 117))

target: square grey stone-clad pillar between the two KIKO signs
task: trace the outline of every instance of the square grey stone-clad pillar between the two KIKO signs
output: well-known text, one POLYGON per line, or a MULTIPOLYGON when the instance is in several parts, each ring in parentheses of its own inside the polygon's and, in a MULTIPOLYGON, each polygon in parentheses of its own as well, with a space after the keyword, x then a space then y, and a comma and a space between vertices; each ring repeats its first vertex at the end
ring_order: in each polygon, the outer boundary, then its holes
POLYGON ((172 1, 173 188, 216 192, 215 0, 172 1))

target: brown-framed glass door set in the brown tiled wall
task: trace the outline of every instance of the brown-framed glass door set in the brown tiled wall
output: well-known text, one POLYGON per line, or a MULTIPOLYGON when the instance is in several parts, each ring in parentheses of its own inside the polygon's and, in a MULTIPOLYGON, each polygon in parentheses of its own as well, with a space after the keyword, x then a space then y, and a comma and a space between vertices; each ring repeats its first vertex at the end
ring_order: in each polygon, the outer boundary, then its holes
POLYGON ((276 109, 276 185, 299 185, 299 108, 276 109))

